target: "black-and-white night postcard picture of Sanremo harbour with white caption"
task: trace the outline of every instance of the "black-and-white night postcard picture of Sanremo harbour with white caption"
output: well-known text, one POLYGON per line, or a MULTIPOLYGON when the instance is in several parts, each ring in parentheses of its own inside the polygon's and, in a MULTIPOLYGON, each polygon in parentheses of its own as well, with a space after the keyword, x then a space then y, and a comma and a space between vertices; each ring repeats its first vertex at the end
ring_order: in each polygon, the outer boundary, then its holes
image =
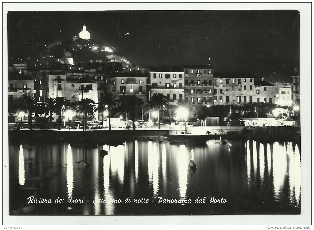
POLYGON ((58 4, 4 16, 9 216, 303 212, 297 8, 58 4))

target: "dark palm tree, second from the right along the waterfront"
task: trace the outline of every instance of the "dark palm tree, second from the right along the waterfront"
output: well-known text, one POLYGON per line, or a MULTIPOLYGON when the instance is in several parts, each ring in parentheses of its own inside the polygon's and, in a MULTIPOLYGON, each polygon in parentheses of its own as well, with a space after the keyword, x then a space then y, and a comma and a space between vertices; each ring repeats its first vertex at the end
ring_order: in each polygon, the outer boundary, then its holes
POLYGON ((135 110, 144 104, 143 100, 134 95, 123 95, 120 97, 120 113, 130 114, 133 122, 133 130, 135 130, 135 110))

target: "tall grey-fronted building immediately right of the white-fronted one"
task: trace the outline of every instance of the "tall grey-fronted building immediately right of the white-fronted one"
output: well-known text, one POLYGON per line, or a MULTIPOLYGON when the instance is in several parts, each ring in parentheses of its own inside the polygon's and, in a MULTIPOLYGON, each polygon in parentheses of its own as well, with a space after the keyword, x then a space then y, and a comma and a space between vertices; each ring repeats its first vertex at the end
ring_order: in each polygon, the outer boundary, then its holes
POLYGON ((213 69, 209 66, 185 66, 183 72, 185 103, 213 105, 213 69))

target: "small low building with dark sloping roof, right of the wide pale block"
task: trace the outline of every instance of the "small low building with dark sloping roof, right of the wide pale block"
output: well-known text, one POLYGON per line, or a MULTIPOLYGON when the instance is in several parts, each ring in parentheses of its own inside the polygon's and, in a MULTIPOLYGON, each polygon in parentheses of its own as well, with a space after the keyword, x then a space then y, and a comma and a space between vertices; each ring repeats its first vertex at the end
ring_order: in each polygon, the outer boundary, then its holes
POLYGON ((267 81, 254 82, 254 102, 275 103, 276 87, 267 81))

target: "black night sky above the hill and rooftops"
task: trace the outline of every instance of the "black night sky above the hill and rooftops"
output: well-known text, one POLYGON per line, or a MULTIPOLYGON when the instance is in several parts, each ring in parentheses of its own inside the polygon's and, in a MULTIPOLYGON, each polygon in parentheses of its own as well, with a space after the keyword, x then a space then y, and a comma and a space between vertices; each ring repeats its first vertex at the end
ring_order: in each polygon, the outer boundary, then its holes
POLYGON ((9 59, 70 41, 83 23, 92 39, 141 66, 210 63, 271 82, 291 81, 300 67, 296 10, 9 12, 9 59))

